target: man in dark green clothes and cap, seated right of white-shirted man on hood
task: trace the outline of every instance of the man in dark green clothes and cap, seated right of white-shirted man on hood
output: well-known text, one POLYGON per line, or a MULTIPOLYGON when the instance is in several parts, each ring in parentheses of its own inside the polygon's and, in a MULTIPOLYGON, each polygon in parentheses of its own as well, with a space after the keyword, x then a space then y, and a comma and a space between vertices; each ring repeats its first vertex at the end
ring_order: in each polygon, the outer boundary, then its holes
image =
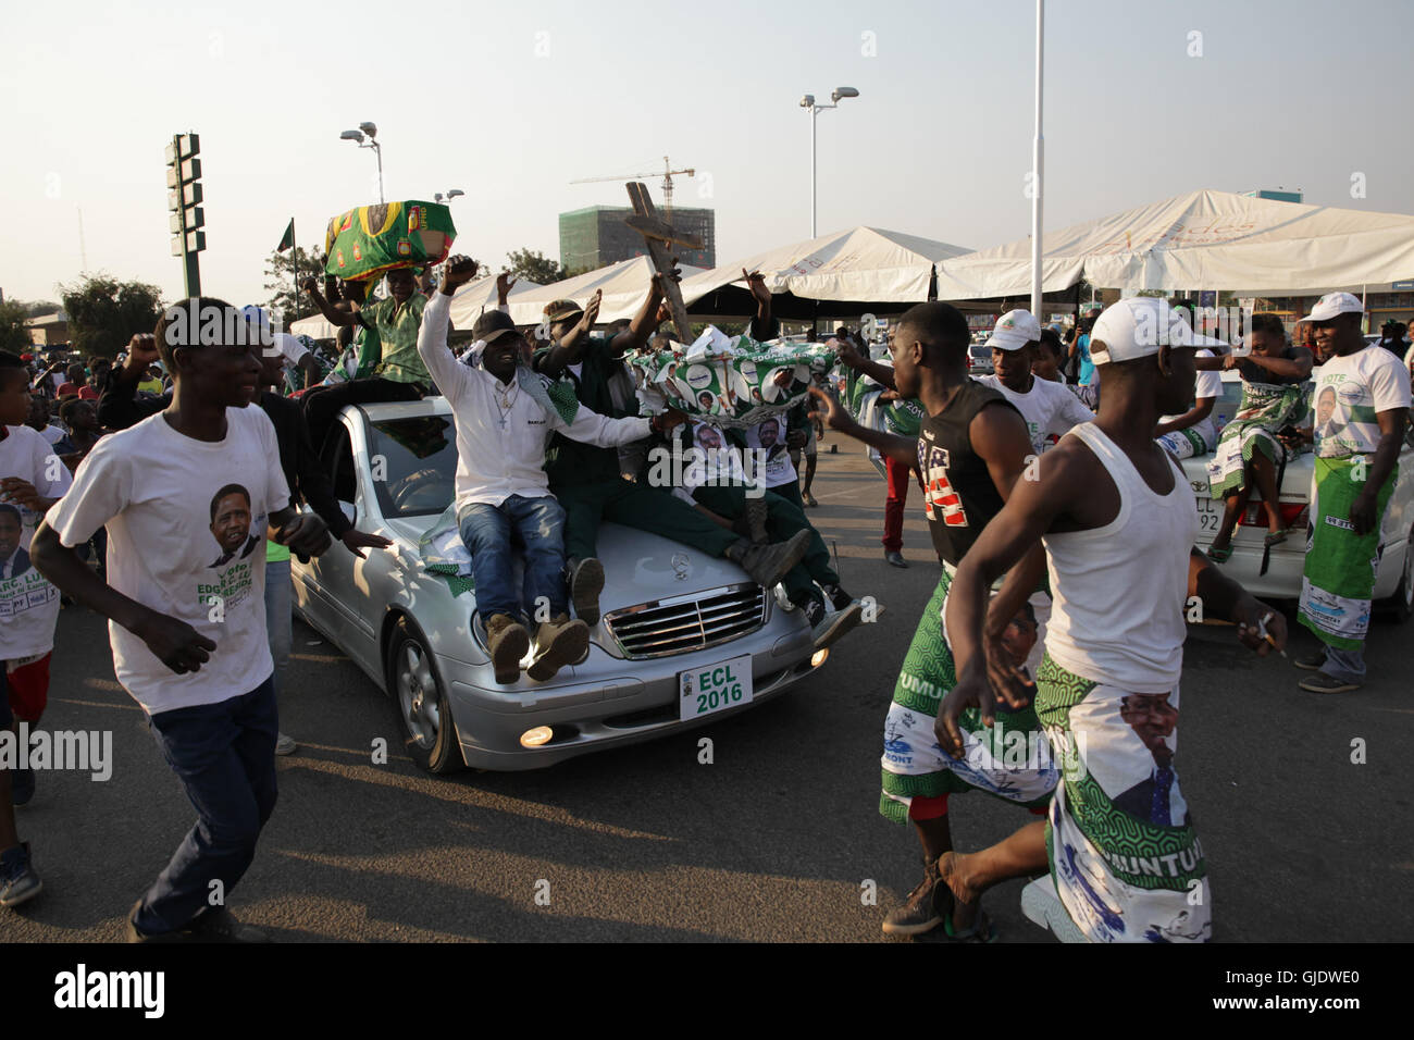
MULTIPOLYGON (((648 299, 633 321, 612 340, 590 335, 584 313, 573 300, 549 304, 542 328, 547 330, 550 344, 536 351, 536 371, 568 379, 580 403, 591 412, 624 415, 614 402, 611 382, 624 368, 624 352, 642 347, 658 327, 663 301, 660 279, 660 275, 653 276, 648 299)), ((783 543, 754 545, 673 498, 670 488, 624 480, 618 453, 609 447, 557 434, 546 458, 550 491, 566 514, 570 599, 575 614, 587 624, 598 624, 600 620, 604 567, 595 559, 595 546, 602 521, 662 535, 711 556, 725 556, 768 589, 781 582, 806 553, 809 536, 803 531, 783 543)))

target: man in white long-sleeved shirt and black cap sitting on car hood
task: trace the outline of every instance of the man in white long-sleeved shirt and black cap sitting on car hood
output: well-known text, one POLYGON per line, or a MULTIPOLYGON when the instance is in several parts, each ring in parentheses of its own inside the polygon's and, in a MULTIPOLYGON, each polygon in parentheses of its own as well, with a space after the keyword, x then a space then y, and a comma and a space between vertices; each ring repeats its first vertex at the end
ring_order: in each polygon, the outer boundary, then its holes
MULTIPOLYGON (((544 471, 546 443, 564 433, 612 449, 666 432, 686 416, 667 412, 649 419, 608 419, 568 395, 556 396, 547 379, 522 358, 523 337, 509 314, 488 311, 474 335, 485 344, 481 364, 458 364, 447 348, 448 311, 457 289, 477 275, 475 260, 455 256, 447 263, 441 289, 427 304, 417 349, 452 408, 457 426, 457 522, 471 552, 477 610, 486 627, 486 648, 496 682, 520 678, 520 659, 530 649, 523 616, 549 620, 536 630, 536 652, 526 674, 544 682, 583 658, 590 645, 583 617, 571 621, 564 587, 564 509, 550 494, 544 471), (512 539, 525 545, 525 600, 512 577, 512 539)), ((615 477, 617 480, 617 477, 615 477)), ((602 567, 585 557, 585 566, 602 567)), ((598 620, 598 618, 595 618, 598 620)))

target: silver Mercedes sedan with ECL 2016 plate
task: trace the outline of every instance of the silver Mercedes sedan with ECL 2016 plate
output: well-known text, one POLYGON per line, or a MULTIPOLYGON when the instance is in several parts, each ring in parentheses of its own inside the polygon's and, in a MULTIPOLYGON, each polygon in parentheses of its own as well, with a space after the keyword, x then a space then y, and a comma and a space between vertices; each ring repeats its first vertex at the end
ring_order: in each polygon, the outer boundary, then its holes
POLYGON ((457 470, 445 399, 346 408, 322 461, 344 511, 393 545, 296 559, 296 610, 387 691, 430 773, 532 770, 652 740, 769 700, 829 655, 735 563, 605 524, 588 655, 549 682, 499 685, 475 591, 423 566, 457 470))

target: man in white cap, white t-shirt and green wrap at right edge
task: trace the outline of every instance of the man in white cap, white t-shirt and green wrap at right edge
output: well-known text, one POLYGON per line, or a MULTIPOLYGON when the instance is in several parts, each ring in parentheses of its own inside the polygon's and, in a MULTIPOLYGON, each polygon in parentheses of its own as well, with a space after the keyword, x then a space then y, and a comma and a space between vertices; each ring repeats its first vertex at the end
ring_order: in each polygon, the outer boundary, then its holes
POLYGON ((1380 525, 1398 477, 1410 408, 1410 374, 1360 334, 1365 307, 1350 293, 1328 293, 1307 316, 1329 354, 1312 400, 1315 470, 1301 577, 1301 624, 1325 644, 1298 668, 1312 693, 1345 693, 1365 681, 1370 593, 1384 548, 1380 525))

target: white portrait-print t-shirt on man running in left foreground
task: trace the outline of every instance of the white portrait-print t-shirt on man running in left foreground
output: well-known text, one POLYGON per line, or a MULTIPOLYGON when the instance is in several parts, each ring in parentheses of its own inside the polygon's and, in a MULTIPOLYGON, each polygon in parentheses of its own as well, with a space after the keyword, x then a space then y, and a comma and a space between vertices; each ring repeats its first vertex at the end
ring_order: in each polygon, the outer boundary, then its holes
POLYGON ((177 433, 161 412, 103 437, 49 509, 65 546, 107 528, 107 583, 216 644, 198 672, 178 675, 109 621, 117 681, 148 715, 229 700, 270 678, 264 533, 288 504, 274 426, 250 406, 226 409, 219 441, 177 433))

